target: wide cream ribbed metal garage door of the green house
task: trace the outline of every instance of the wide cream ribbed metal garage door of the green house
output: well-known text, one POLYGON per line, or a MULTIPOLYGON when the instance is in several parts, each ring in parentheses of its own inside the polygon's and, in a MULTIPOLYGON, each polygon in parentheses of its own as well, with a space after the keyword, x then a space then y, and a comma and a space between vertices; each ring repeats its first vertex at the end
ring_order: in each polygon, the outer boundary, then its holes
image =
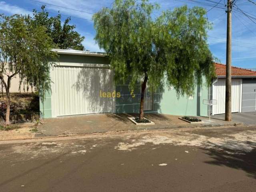
POLYGON ((56 116, 112 112, 111 70, 103 67, 54 67, 56 116))

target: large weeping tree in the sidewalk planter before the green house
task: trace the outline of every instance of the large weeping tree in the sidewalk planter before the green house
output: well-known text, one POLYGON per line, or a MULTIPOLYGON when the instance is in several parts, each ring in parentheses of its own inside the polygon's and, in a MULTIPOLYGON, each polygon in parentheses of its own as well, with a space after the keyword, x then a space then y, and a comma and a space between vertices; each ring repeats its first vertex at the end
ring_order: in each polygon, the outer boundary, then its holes
POLYGON ((129 78, 132 88, 142 79, 140 121, 147 82, 152 91, 166 83, 184 95, 202 84, 202 76, 208 85, 214 76, 206 10, 182 6, 153 18, 158 8, 148 0, 115 0, 93 16, 95 40, 109 56, 115 80, 129 78))

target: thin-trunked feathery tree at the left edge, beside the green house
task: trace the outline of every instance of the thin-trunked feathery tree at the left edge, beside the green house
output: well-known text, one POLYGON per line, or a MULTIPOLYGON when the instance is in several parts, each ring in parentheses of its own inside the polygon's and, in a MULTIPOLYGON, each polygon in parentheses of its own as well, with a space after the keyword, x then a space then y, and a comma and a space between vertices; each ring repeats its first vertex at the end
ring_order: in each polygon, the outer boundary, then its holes
POLYGON ((49 70, 53 63, 49 64, 48 59, 57 57, 52 48, 46 28, 34 26, 29 16, 0 15, 0 80, 6 90, 6 125, 10 124, 9 90, 14 76, 33 85, 43 100, 45 91, 50 90, 49 70))

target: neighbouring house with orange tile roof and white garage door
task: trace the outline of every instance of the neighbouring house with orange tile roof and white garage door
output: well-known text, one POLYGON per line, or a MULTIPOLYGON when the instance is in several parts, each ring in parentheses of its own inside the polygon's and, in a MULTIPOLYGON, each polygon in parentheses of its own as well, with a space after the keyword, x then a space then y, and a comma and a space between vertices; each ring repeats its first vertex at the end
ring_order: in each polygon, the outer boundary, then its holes
MULTIPOLYGON (((212 106, 212 114, 225 113, 226 65, 216 63, 217 80, 211 87, 211 99, 217 104, 212 106)), ((232 112, 256 111, 256 72, 232 67, 232 112)))

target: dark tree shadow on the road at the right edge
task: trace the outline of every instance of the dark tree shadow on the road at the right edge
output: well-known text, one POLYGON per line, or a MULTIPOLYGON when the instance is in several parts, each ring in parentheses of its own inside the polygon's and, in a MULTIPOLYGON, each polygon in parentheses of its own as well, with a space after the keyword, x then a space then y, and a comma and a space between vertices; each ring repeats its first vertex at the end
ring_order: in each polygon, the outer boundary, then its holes
POLYGON ((250 151, 231 150, 222 146, 218 146, 218 150, 211 148, 205 154, 208 154, 212 160, 205 161, 205 163, 244 170, 249 177, 256 179, 256 142, 244 141, 243 143, 249 144, 253 149, 250 151))

